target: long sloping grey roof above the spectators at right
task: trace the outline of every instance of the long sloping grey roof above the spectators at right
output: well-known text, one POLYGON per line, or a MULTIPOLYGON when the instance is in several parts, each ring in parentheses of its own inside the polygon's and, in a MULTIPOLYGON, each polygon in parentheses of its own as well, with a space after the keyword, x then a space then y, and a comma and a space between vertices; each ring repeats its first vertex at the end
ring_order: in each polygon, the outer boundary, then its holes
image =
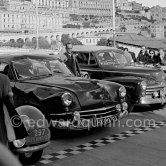
MULTIPOLYGON (((113 38, 110 39, 113 40, 113 38)), ((138 47, 145 45, 148 48, 163 48, 164 50, 166 50, 166 42, 137 34, 125 34, 123 36, 117 36, 115 37, 115 41, 138 47)))

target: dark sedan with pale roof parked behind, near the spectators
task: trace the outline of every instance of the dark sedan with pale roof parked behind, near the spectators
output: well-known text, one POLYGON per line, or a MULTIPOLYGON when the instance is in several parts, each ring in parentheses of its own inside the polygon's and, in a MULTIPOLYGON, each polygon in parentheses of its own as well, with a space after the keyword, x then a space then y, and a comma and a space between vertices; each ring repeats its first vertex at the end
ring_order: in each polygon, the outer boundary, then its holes
POLYGON ((106 46, 74 46, 81 71, 90 78, 120 83, 126 87, 129 111, 137 104, 166 102, 165 75, 155 67, 130 65, 122 50, 106 46))

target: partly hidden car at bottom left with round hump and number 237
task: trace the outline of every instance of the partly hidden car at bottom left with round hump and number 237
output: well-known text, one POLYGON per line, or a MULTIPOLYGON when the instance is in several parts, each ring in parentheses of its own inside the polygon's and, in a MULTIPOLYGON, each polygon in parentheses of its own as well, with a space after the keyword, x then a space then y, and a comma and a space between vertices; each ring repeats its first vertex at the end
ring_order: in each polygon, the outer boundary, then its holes
MULTIPOLYGON (((16 111, 21 116, 28 136, 10 142, 9 147, 23 165, 33 165, 40 160, 44 148, 50 144, 48 122, 42 112, 33 106, 22 105, 17 107, 16 111)), ((13 117, 12 121, 17 122, 17 117, 13 117)))

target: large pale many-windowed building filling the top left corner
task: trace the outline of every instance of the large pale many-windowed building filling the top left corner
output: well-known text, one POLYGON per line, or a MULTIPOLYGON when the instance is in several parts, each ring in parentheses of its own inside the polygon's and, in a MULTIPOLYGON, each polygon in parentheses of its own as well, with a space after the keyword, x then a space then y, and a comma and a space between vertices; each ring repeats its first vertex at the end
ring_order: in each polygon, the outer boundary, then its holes
POLYGON ((69 22, 69 0, 7 0, 2 7, 0 31, 56 31, 69 22))

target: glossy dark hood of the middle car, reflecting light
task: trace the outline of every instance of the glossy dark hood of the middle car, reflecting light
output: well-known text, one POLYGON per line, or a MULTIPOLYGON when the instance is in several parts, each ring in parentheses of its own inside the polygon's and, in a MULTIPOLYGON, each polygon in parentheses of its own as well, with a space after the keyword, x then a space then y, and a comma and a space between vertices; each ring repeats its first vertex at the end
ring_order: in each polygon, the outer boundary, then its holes
POLYGON ((111 98, 106 88, 100 86, 97 80, 88 80, 81 77, 52 76, 40 79, 25 80, 24 82, 35 85, 50 86, 64 89, 74 93, 81 106, 103 105, 111 98))

